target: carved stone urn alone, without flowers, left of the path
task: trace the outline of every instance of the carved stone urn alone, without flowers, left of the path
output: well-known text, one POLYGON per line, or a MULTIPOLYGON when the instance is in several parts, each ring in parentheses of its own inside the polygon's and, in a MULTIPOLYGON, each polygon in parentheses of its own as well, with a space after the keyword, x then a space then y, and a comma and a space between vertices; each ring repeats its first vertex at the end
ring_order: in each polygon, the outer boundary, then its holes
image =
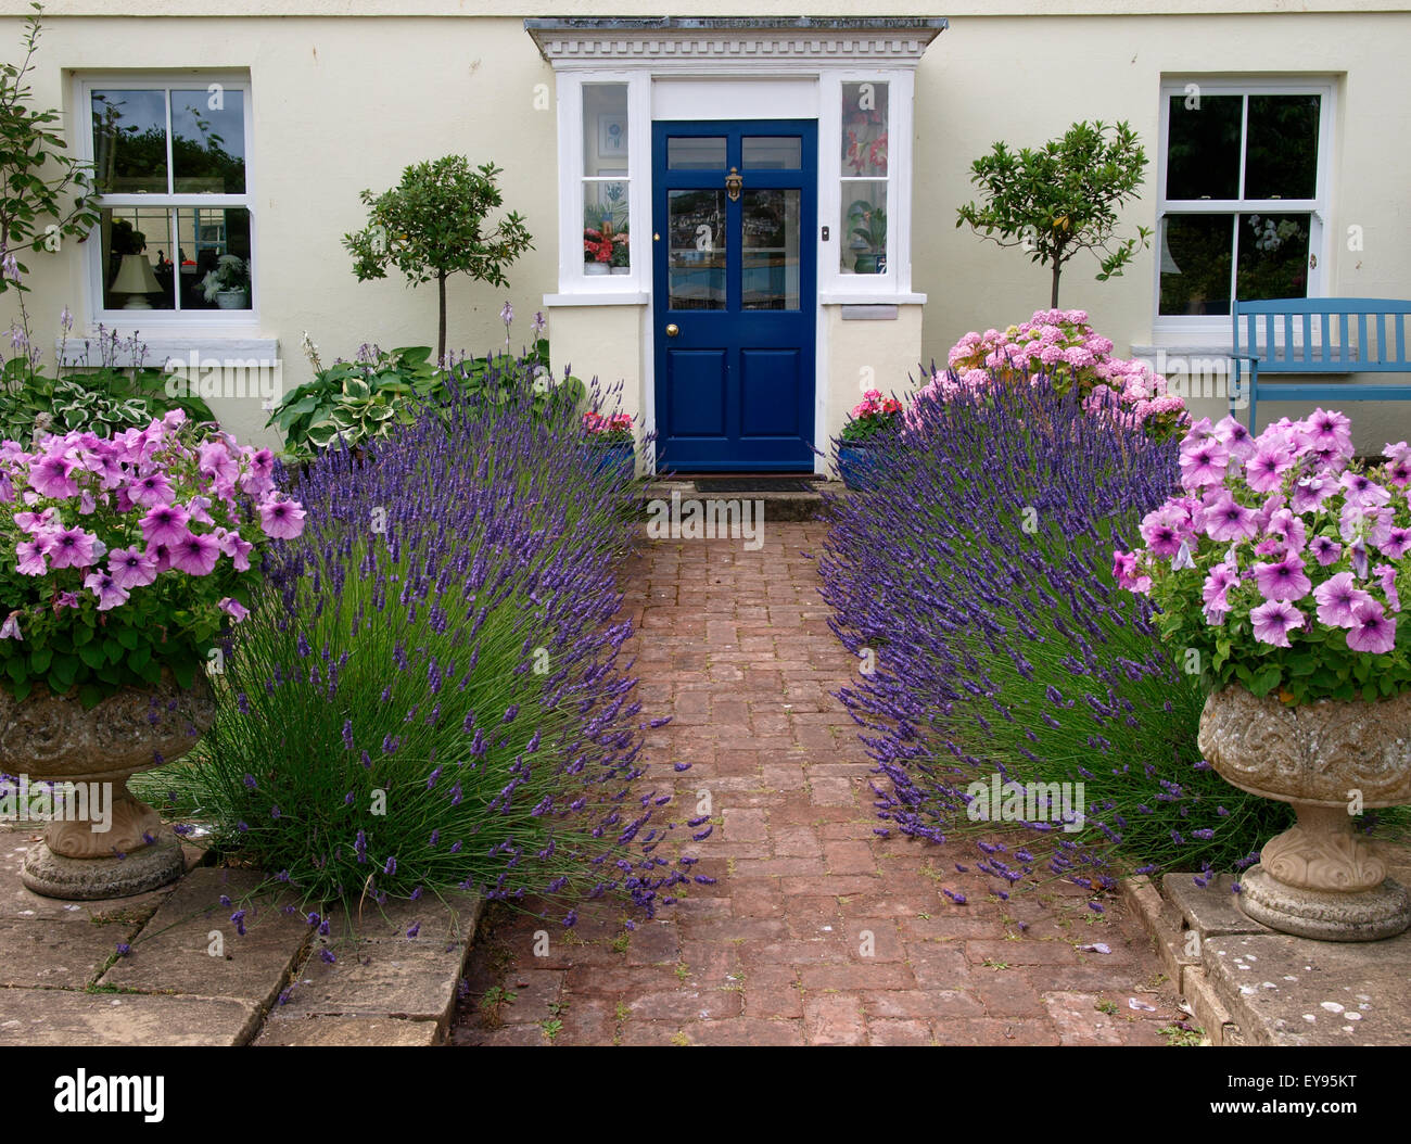
POLYGON ((124 688, 90 711, 76 695, 42 686, 20 701, 0 691, 0 772, 25 776, 31 790, 45 781, 83 784, 87 796, 86 807, 73 797, 72 810, 45 827, 44 842, 24 860, 24 884, 47 897, 93 900, 178 879, 179 839, 127 780, 179 759, 214 717, 210 683, 199 671, 192 688, 164 671, 157 687, 124 688), (86 815, 68 817, 73 810, 86 815))

